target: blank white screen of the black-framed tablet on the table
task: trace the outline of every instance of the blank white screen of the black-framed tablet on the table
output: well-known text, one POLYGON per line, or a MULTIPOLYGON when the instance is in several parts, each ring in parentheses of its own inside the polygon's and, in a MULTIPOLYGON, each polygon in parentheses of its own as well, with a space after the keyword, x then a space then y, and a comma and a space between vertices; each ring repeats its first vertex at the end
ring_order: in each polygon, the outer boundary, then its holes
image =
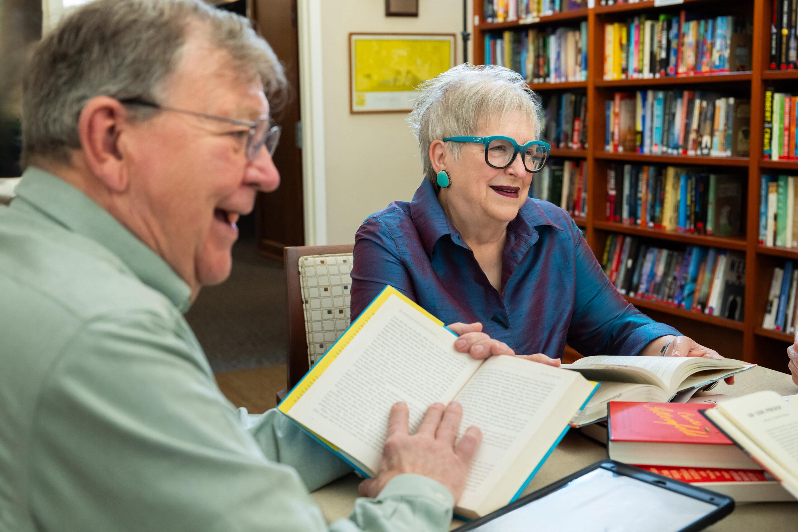
POLYGON ((473 532, 674 532, 717 506, 599 467, 473 532))

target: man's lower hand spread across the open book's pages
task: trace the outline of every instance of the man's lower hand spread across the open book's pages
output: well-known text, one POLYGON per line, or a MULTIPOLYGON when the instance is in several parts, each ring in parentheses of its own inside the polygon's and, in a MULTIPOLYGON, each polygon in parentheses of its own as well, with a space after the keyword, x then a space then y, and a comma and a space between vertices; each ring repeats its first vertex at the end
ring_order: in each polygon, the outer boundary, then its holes
POLYGON ((360 495, 377 497, 393 477, 415 473, 437 480, 452 492, 455 503, 459 501, 471 460, 482 442, 480 429, 469 427, 455 445, 462 416, 463 407, 456 401, 449 403, 448 407, 433 404, 421 420, 416 434, 410 435, 407 404, 394 404, 380 468, 377 476, 360 483, 360 495))

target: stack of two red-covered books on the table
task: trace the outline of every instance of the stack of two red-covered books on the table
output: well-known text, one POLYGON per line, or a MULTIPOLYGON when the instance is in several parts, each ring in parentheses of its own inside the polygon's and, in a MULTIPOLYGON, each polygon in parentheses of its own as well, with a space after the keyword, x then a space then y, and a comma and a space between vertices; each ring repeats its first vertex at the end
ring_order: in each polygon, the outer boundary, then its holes
POLYGON ((701 415, 701 410, 713 407, 611 402, 608 454, 611 459, 717 491, 737 502, 794 500, 701 415))

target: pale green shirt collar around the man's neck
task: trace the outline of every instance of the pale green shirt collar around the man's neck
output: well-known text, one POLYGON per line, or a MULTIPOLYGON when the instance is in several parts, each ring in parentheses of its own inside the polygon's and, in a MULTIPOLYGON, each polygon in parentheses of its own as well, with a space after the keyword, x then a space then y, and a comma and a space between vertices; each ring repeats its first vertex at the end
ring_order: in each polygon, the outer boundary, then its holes
POLYGON ((181 312, 190 305, 191 289, 164 262, 117 219, 63 179, 36 167, 22 175, 14 201, 22 199, 77 234, 92 239, 128 266, 152 289, 164 294, 181 312))

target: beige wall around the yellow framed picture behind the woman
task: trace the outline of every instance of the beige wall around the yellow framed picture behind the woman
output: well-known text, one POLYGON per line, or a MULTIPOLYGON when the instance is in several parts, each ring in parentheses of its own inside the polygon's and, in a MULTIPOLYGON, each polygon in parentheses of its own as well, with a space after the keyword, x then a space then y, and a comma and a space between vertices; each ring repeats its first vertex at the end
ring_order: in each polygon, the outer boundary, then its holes
MULTIPOLYGON (((349 33, 456 33, 455 62, 460 63, 463 0, 419 0, 417 18, 385 17, 383 0, 321 4, 326 242, 343 244, 354 242, 366 216, 394 200, 412 199, 422 179, 417 143, 405 113, 350 114, 349 33)), ((469 25, 471 7, 468 0, 469 25)))

